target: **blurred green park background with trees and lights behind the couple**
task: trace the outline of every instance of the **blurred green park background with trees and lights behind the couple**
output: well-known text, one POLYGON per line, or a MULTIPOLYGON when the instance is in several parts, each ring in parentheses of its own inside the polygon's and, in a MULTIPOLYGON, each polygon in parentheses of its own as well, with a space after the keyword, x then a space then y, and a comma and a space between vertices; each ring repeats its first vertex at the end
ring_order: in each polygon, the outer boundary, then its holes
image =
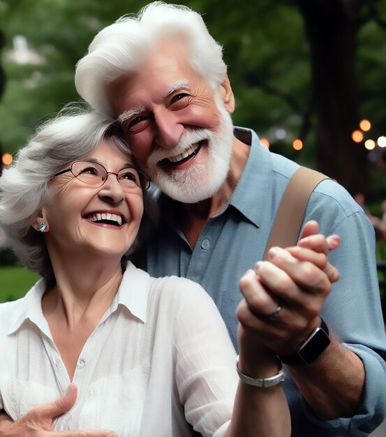
MULTIPOLYGON (((79 101, 75 64, 94 35, 146 3, 0 0, 3 168, 38 124, 79 101)), ((203 15, 224 47, 236 96, 235 124, 255 129, 272 151, 336 179, 362 204, 376 228, 384 286, 386 1, 184 4, 203 15)), ((1 230, 0 257, 3 302, 23 295, 36 276, 15 266, 1 230)), ((384 288, 381 294, 385 297, 384 288)))

